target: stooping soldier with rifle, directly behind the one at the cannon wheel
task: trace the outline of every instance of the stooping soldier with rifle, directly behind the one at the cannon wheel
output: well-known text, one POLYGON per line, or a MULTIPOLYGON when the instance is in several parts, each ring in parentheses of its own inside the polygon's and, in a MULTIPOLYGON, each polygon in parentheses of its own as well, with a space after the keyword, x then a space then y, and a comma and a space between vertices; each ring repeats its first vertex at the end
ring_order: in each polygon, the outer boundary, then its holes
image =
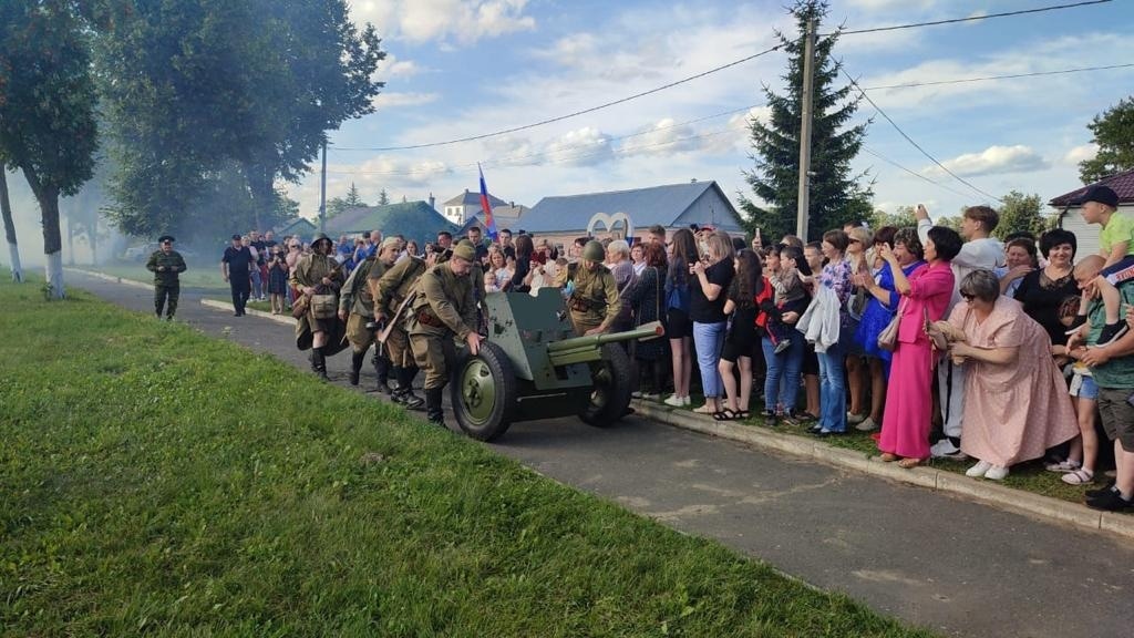
POLYGON ((407 254, 384 274, 378 277, 374 276, 373 270, 370 274, 370 286, 374 297, 374 317, 380 322, 393 322, 386 337, 386 352, 398 385, 390 394, 390 398, 411 410, 420 410, 425 402, 413 391, 414 377, 417 376, 417 363, 409 349, 409 335, 406 334, 405 320, 407 317, 395 316, 401 308, 401 303, 415 289, 417 280, 422 272, 425 272, 425 269, 424 259, 407 254))

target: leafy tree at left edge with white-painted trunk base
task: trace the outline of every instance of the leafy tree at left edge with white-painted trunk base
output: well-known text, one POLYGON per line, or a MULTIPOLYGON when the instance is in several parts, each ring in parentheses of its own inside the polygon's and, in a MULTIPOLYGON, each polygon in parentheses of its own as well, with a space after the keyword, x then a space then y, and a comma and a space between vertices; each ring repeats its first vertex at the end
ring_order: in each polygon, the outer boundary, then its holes
POLYGON ((91 57, 67 0, 0 2, 0 160, 19 168, 40 205, 49 296, 64 297, 59 196, 94 170, 91 57))

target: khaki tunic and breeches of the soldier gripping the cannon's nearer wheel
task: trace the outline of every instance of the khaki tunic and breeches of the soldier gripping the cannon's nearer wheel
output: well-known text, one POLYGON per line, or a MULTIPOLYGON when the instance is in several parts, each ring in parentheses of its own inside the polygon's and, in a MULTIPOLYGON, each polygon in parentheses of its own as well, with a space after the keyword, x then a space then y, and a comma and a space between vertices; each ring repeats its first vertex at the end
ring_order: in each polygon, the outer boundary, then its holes
POLYGON ((458 277, 448 265, 422 275, 414 314, 407 324, 417 367, 425 370, 425 389, 445 387, 449 368, 447 350, 476 330, 476 299, 472 275, 458 277))

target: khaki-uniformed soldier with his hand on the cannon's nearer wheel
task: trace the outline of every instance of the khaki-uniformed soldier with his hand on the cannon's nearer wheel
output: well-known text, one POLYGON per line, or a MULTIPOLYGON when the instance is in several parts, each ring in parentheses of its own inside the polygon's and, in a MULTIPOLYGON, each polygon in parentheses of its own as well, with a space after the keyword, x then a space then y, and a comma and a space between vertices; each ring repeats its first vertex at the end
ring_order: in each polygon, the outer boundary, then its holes
POLYGON ((476 331, 477 311, 473 285, 473 262, 476 250, 458 244, 452 257, 422 275, 418 295, 409 317, 409 343, 417 366, 425 370, 425 412, 430 421, 445 425, 441 393, 448 383, 454 339, 480 352, 481 335, 476 331))

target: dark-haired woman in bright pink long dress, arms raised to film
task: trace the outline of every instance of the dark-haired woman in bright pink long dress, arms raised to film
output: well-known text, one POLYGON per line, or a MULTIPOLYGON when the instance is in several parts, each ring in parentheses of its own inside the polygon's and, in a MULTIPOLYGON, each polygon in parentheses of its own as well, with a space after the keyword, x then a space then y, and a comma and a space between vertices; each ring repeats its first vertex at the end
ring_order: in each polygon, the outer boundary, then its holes
POLYGON ((894 251, 905 250, 912 240, 904 230, 894 237, 894 249, 881 246, 879 254, 890 265, 898 301, 898 344, 890 363, 890 386, 886 392, 886 412, 878 448, 883 461, 898 461, 903 468, 920 465, 929 459, 929 430, 933 410, 933 347, 925 335, 925 318, 945 317, 953 297, 953 268, 949 261, 960 252, 960 235, 951 228, 934 226, 923 246, 929 266, 907 278, 894 251), (899 461, 900 459, 900 461, 899 461))

